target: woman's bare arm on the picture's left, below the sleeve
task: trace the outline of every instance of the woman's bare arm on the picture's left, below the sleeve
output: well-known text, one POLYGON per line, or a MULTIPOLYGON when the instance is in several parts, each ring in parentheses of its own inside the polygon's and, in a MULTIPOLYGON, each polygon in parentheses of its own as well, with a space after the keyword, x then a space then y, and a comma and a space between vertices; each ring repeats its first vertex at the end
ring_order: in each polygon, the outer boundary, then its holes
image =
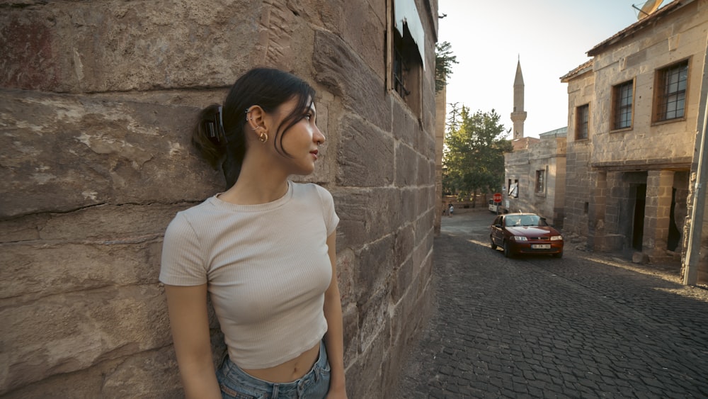
POLYGON ((207 285, 166 285, 165 293, 186 397, 221 399, 209 336, 207 285))

